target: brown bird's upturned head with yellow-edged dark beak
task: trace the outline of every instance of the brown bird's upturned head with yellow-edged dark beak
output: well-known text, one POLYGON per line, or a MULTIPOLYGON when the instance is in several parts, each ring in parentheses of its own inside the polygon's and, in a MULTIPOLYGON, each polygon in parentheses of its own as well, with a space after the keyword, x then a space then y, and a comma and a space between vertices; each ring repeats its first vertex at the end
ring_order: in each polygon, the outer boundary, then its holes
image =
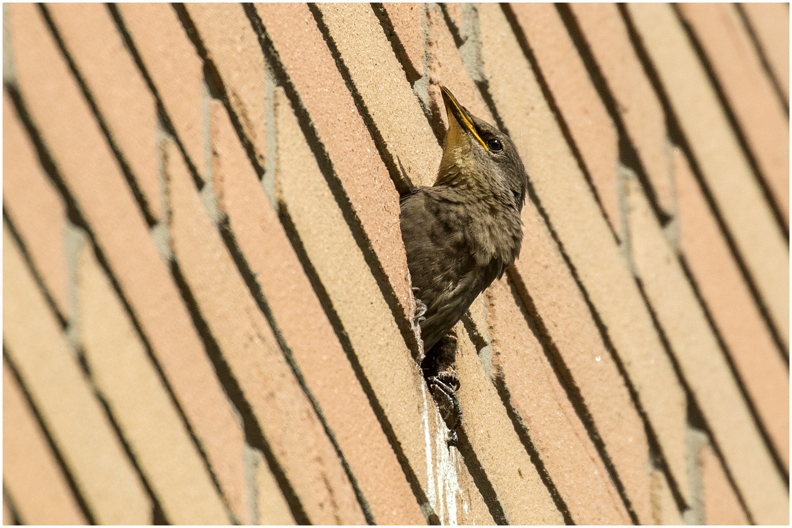
POLYGON ((435 185, 490 193, 513 200, 517 211, 525 201, 528 177, 512 139, 478 119, 440 86, 448 115, 448 132, 435 185))

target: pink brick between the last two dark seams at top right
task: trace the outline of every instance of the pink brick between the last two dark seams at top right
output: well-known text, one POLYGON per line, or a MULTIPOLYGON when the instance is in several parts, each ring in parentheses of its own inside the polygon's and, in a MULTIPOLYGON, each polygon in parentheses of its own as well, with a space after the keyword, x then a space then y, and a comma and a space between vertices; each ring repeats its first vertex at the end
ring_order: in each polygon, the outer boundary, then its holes
POLYGON ((680 12, 704 48, 789 226, 789 116, 775 96, 737 9, 727 4, 691 3, 680 6, 680 12))

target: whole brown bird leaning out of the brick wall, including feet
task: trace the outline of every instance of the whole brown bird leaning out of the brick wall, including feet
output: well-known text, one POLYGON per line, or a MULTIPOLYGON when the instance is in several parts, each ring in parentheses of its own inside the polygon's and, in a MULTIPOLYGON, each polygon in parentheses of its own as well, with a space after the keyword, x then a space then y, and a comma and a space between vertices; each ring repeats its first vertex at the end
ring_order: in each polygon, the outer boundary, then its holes
POLYGON ((402 196, 400 223, 425 350, 421 369, 455 435, 462 409, 450 330, 520 254, 528 176, 508 134, 473 116, 445 86, 440 93, 448 129, 437 178, 402 196))

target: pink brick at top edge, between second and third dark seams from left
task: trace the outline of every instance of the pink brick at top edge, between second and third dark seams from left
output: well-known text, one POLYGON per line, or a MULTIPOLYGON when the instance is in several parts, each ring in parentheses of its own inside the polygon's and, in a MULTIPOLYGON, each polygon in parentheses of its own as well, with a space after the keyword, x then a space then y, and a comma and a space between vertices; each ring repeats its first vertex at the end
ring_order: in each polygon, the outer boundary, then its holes
POLYGON ((204 174, 204 64, 169 4, 118 4, 173 127, 204 174))

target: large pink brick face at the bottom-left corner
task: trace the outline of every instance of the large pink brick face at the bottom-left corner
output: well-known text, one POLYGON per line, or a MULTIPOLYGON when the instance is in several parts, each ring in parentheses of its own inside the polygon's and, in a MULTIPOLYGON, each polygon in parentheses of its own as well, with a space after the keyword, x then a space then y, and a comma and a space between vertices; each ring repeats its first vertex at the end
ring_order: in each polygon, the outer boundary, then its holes
MULTIPOLYGON (((28 524, 86 524, 17 381, 2 363, 2 482, 28 524)), ((5 499, 5 496, 4 496, 5 499)), ((6 510, 6 500, 3 500, 6 510)), ((10 513, 10 511, 9 511, 10 513)), ((3 524, 13 524, 3 514, 3 524)))

